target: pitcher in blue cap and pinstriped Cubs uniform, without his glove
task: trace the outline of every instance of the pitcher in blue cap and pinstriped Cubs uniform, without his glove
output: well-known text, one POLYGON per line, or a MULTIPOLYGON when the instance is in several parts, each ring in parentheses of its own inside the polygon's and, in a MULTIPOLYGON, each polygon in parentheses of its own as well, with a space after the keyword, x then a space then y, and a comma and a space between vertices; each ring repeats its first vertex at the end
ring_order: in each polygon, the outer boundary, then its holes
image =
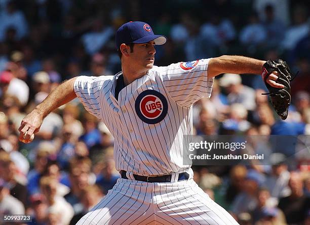
MULTIPOLYGON (((19 139, 31 141, 43 119, 76 96, 115 138, 122 178, 77 224, 238 224, 193 181, 182 164, 183 135, 192 133, 192 104, 211 96, 220 73, 260 73, 265 61, 221 56, 154 66, 155 45, 166 42, 147 23, 123 24, 116 33, 122 71, 76 77, 58 86, 27 115, 19 139)), ((276 74, 268 84, 276 88, 276 74)))

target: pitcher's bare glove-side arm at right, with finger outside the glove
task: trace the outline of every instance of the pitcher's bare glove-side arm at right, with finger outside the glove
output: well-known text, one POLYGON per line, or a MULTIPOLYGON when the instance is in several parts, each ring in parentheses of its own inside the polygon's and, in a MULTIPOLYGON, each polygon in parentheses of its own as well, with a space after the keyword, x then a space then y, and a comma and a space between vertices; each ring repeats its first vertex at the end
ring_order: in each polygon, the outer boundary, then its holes
MULTIPOLYGON (((221 73, 253 73, 261 74, 266 61, 253 59, 245 56, 223 55, 212 58, 208 63, 208 77, 213 78, 221 73)), ((276 83, 277 73, 270 74, 266 82, 275 88, 283 88, 282 84, 276 83)))

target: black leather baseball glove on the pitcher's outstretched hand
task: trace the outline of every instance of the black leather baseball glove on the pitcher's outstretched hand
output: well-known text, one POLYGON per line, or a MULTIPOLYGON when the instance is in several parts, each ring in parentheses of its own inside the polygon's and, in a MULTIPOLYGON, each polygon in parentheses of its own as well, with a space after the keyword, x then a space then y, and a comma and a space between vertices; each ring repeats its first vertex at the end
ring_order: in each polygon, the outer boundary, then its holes
POLYGON ((276 59, 275 61, 268 60, 265 62, 261 72, 262 79, 269 90, 270 100, 274 106, 277 114, 285 120, 288 115, 288 108, 291 103, 291 86, 290 82, 293 79, 293 73, 291 72, 288 64, 281 60, 276 59), (284 88, 274 88, 270 86, 266 81, 269 75, 274 72, 278 72, 277 83, 284 85, 284 88))

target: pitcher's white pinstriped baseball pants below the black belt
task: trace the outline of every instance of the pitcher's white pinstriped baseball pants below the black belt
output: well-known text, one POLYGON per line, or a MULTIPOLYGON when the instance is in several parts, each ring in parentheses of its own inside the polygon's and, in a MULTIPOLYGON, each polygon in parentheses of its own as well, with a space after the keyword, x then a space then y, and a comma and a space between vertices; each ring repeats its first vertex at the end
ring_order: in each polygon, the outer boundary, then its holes
POLYGON ((149 183, 119 178, 77 225, 238 224, 193 179, 149 183))

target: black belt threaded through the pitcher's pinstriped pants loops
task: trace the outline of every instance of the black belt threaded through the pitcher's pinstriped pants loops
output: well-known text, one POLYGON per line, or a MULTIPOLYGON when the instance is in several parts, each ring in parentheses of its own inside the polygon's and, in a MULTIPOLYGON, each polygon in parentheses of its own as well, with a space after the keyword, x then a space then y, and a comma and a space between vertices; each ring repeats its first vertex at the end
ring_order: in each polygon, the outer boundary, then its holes
MULTIPOLYGON (((128 179, 126 176, 126 171, 121 170, 120 171, 122 178, 128 179)), ((144 181, 144 182, 150 182, 150 183, 157 183, 157 182, 171 182, 171 175, 164 175, 164 176, 140 176, 133 174, 135 180, 139 181, 144 181)), ((184 173, 179 173, 178 181, 181 180, 188 180, 189 174, 184 172, 184 173)))

